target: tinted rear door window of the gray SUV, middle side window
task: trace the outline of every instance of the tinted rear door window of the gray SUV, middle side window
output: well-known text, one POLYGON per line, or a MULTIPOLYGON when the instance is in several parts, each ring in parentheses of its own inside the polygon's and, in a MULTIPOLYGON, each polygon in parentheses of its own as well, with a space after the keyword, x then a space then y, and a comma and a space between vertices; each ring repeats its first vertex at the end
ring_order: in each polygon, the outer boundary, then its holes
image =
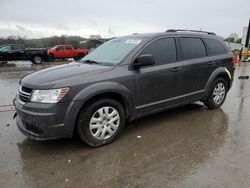
POLYGON ((181 37, 182 58, 201 58, 207 55, 206 47, 200 38, 181 37))

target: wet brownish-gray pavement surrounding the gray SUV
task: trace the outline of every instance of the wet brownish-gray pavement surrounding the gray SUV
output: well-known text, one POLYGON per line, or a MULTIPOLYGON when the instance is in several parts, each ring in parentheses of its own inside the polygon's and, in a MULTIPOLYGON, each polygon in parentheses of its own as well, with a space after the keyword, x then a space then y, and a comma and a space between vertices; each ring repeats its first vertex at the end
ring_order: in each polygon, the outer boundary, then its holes
POLYGON ((57 63, 0 65, 0 187, 250 187, 250 64, 224 105, 202 103, 129 123, 112 144, 27 139, 12 119, 19 80, 57 63))

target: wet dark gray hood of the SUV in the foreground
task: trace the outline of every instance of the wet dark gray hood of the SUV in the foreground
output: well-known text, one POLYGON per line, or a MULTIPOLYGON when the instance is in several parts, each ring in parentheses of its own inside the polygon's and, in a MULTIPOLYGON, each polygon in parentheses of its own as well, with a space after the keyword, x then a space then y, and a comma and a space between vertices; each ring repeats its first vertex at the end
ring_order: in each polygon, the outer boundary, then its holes
POLYGON ((25 87, 32 89, 49 89, 56 83, 67 78, 89 75, 93 76, 101 72, 112 70, 114 67, 84 63, 69 63, 34 72, 21 81, 25 87))

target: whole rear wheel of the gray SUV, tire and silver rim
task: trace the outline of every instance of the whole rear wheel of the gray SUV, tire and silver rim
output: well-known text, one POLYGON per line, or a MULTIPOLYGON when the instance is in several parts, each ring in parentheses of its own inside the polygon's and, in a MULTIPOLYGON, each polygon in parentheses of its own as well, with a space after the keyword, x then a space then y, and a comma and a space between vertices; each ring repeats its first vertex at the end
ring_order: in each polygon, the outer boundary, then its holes
POLYGON ((210 88, 209 95, 204 101, 204 104, 209 109, 221 107, 227 96, 228 86, 224 78, 216 79, 210 88))

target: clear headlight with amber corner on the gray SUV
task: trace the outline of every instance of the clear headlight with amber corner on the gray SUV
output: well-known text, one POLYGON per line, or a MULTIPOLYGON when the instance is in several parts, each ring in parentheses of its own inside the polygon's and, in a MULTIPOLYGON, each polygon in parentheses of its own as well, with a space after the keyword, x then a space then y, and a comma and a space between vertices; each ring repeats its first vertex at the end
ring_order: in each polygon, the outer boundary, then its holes
POLYGON ((69 87, 50 90, 33 90, 30 101, 40 103, 57 103, 66 93, 69 87))

